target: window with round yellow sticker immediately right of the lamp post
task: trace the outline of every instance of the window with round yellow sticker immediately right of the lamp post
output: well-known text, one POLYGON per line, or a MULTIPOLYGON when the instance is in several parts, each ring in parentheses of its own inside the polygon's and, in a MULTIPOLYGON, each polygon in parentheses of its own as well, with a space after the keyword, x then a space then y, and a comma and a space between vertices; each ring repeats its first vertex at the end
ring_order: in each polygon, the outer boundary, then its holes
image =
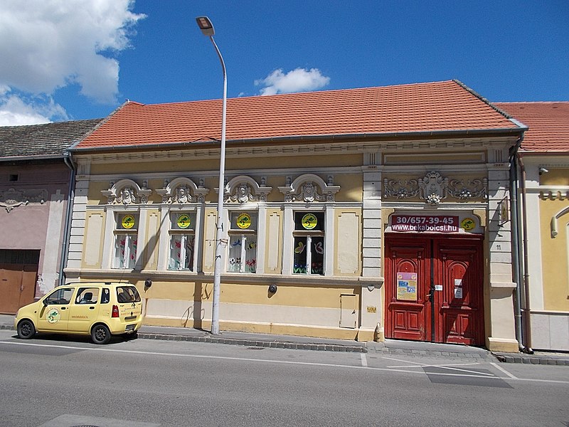
POLYGON ((257 271, 257 213, 230 213, 228 271, 257 271))

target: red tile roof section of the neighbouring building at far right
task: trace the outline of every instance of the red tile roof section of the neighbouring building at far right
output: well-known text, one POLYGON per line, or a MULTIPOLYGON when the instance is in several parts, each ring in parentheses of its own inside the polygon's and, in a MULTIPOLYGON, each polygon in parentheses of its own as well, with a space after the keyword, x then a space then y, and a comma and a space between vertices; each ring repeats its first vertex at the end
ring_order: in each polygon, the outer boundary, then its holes
POLYGON ((569 102, 494 102, 529 127, 521 149, 569 152, 569 102))

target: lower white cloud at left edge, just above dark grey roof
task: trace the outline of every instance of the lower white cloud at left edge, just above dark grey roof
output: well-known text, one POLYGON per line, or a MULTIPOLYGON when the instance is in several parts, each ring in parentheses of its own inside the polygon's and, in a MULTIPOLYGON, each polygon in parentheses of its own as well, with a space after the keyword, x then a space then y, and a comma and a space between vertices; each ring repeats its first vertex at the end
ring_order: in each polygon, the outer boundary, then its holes
POLYGON ((0 85, 0 126, 39 125, 54 118, 69 120, 63 107, 51 97, 26 97, 0 85))

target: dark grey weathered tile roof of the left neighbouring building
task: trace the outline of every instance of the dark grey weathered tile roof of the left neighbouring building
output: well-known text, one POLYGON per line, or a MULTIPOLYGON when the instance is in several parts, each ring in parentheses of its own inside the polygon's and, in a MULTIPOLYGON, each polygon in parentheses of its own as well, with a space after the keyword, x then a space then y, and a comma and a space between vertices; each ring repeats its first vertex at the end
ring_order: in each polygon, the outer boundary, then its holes
POLYGON ((102 119, 43 125, 0 127, 0 161, 8 159, 48 159, 63 157, 63 152, 85 137, 102 119))

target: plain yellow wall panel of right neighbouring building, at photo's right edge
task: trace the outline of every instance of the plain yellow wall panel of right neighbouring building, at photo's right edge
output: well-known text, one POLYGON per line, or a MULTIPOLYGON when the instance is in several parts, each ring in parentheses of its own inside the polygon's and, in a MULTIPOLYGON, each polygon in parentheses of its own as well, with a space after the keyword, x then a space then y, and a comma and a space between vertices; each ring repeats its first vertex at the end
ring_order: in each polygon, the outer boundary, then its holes
POLYGON ((558 218, 558 235, 551 236, 551 218, 568 207, 567 199, 541 199, 539 204, 545 310, 569 311, 569 213, 558 218))

